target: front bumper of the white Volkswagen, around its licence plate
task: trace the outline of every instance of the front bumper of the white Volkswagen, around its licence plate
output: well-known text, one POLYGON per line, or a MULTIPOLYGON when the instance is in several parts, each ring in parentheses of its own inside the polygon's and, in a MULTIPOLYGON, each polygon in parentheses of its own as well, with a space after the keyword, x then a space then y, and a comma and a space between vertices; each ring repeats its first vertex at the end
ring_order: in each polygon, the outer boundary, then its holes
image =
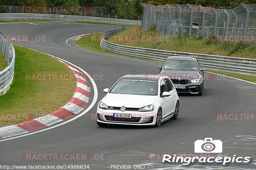
MULTIPOLYGON (((156 108, 154 109, 156 110, 156 108)), ((120 111, 120 110, 104 110, 97 109, 97 122, 106 124, 123 124, 123 125, 141 125, 153 126, 156 124, 156 113, 139 112, 139 111, 120 111), (132 114, 131 118, 113 117, 113 113, 132 114)))

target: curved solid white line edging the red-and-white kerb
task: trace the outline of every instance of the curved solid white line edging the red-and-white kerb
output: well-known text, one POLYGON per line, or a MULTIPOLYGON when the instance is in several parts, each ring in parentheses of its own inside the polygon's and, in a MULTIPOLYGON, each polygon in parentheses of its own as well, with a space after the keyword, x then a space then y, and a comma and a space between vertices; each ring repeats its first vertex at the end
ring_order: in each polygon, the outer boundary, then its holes
MULTIPOLYGON (((18 45, 18 46, 19 46, 19 45, 18 45)), ((22 46, 21 46, 21 47, 22 47, 22 46)), ((28 49, 30 49, 30 48, 28 48, 28 49)), ((34 49, 31 49, 31 50, 34 50, 34 49)), ((34 51, 37 51, 37 50, 34 50, 34 51)), ((44 52, 42 52, 42 53, 44 53, 44 52)), ((44 54, 47 54, 47 53, 44 53, 44 54)), ((50 54, 47 54, 47 55, 50 55, 50 54)), ((78 68, 79 70, 81 70, 84 74, 86 74, 86 75, 89 77, 89 79, 90 79, 91 82, 92 82, 92 86, 93 86, 93 90, 94 90, 94 96, 93 96, 93 100, 92 100, 91 105, 90 105, 89 107, 87 107, 87 108, 86 108, 82 113, 80 113, 79 115, 72 116, 73 118, 69 119, 68 121, 65 121, 65 122, 63 122, 63 123, 57 124, 57 125, 55 125, 55 126, 52 126, 52 127, 46 128, 46 129, 38 130, 38 131, 36 131, 36 132, 27 133, 27 134, 20 135, 20 136, 17 136, 17 137, 10 137, 10 138, 8 138, 8 139, 3 139, 3 140, 0 140, 0 142, 6 141, 6 140, 15 139, 15 138, 19 138, 19 137, 24 137, 24 136, 28 136, 28 135, 32 135, 32 134, 39 133, 39 132, 43 132, 43 131, 45 131, 45 130, 53 129, 53 128, 56 128, 56 127, 61 126, 61 125, 63 125, 63 124, 66 124, 66 123, 68 123, 68 122, 71 122, 71 121, 73 121, 73 120, 75 120, 75 119, 81 117, 82 115, 86 114, 86 113, 94 106, 94 104, 96 103, 97 98, 98 98, 98 89, 97 89, 96 83, 94 82, 94 80, 92 79, 92 77, 90 76, 90 74, 88 74, 86 71, 84 71, 84 70, 81 69, 80 67, 78 67, 78 66, 76 66, 76 65, 74 65, 74 64, 72 64, 72 63, 69 63, 69 62, 66 61, 66 60, 63 60, 63 59, 61 59, 61 58, 59 58, 59 57, 56 57, 56 56, 53 56, 53 55, 50 55, 50 56, 55 57, 55 58, 57 58, 57 59, 59 59, 59 60, 62 60, 62 61, 64 61, 64 62, 66 62, 66 63, 68 63, 68 64, 70 64, 70 65, 72 65, 72 66, 78 68)))

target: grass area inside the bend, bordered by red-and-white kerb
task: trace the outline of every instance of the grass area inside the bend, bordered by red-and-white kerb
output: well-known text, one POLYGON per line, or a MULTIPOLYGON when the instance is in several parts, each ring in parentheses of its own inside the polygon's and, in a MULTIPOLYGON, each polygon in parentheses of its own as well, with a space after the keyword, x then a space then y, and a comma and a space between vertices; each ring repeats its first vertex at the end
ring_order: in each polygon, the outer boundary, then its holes
POLYGON ((7 93, 0 96, 0 127, 51 114, 64 106, 76 89, 76 78, 71 81, 26 80, 26 75, 31 74, 73 75, 73 72, 49 55, 16 45, 14 48, 13 82, 7 93), (19 115, 25 117, 17 119, 19 115))

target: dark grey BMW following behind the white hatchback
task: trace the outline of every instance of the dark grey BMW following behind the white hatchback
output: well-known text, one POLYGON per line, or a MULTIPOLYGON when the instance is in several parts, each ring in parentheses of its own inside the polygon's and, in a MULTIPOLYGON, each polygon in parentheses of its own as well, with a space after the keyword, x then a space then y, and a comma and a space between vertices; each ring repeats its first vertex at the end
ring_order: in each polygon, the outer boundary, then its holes
POLYGON ((176 91, 180 93, 203 94, 204 71, 196 58, 171 56, 164 66, 157 65, 159 75, 168 76, 174 84, 176 91))

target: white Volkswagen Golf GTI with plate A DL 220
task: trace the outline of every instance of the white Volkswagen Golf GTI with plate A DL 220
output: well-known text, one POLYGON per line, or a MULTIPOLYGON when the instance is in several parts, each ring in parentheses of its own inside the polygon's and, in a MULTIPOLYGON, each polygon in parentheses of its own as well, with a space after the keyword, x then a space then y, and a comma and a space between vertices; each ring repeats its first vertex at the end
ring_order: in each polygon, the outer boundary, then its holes
POLYGON ((170 78, 160 75, 129 74, 121 77, 100 100, 97 124, 160 126, 177 119, 180 99, 170 78))

